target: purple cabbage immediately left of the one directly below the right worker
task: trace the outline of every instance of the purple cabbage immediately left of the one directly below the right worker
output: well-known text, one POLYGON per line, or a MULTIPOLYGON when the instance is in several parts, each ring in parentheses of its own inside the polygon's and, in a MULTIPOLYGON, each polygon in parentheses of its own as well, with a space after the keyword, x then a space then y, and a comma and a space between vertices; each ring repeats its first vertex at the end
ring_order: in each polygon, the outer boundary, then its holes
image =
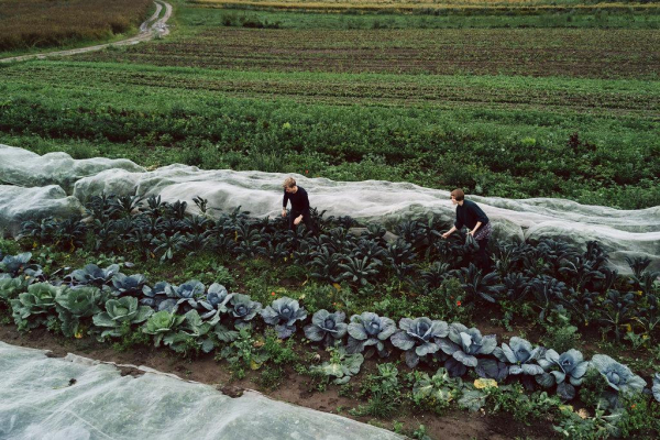
POLYGON ((414 369, 427 354, 440 350, 438 340, 444 338, 448 326, 444 321, 433 321, 427 317, 402 318, 399 329, 392 336, 392 343, 406 353, 406 364, 414 369))

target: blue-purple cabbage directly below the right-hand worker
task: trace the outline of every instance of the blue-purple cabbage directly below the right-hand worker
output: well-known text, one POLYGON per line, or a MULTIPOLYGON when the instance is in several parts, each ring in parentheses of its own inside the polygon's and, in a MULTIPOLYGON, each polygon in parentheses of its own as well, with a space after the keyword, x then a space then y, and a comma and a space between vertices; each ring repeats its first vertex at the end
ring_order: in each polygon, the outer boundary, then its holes
POLYGON ((476 367, 477 355, 491 354, 497 346, 495 334, 482 337, 475 329, 454 322, 449 326, 447 338, 438 340, 440 349, 451 358, 444 363, 444 367, 452 377, 462 376, 468 367, 476 367))

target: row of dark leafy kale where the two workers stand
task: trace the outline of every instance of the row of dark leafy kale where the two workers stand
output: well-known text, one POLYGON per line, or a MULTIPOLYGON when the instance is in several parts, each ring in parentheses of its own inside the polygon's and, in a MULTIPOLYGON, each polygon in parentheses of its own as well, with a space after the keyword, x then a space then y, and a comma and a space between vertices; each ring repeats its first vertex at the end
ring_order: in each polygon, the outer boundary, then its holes
POLYGON ((406 220, 392 227, 397 235, 386 241, 386 230, 369 224, 358 234, 349 217, 323 217, 312 209, 317 235, 296 237, 286 219, 254 219, 240 207, 212 219, 207 200, 195 198, 200 212, 187 215, 185 201, 167 204, 158 197, 94 197, 88 217, 23 223, 23 237, 67 250, 87 248, 144 258, 176 260, 204 252, 229 254, 237 260, 288 261, 305 267, 320 283, 346 283, 354 290, 398 279, 409 292, 427 294, 455 277, 465 290, 465 302, 529 304, 540 320, 553 312, 578 327, 600 327, 618 342, 630 326, 638 337, 653 340, 660 332, 658 278, 650 260, 628 260, 631 276, 620 276, 607 265, 607 253, 597 242, 582 251, 559 240, 493 244, 494 271, 485 274, 472 263, 475 243, 454 233, 438 218, 406 220))

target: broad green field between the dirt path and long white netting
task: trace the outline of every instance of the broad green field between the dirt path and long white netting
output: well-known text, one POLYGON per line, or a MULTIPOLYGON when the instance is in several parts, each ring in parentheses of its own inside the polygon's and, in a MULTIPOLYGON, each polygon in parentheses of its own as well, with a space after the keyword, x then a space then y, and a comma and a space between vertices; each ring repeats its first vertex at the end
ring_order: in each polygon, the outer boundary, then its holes
POLYGON ((0 66, 0 142, 660 205, 658 14, 175 8, 167 38, 0 66))

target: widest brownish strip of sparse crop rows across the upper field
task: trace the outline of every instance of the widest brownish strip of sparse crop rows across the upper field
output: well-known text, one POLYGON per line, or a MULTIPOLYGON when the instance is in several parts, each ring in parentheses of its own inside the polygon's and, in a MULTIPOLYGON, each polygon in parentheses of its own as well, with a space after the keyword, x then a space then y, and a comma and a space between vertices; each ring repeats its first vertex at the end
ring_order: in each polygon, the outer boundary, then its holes
POLYGON ((240 70, 642 79, 658 76, 660 31, 213 28, 79 59, 240 70))

